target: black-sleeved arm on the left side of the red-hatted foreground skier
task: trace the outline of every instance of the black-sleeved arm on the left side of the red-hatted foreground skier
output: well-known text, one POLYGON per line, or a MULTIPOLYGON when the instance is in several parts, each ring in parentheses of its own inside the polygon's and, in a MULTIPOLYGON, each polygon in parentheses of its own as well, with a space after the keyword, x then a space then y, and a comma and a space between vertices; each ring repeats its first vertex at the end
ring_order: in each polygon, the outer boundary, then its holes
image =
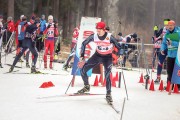
POLYGON ((81 45, 81 56, 80 57, 84 57, 84 52, 85 52, 85 48, 86 48, 86 45, 88 43, 90 43, 91 41, 94 41, 94 34, 90 35, 87 39, 85 39, 83 42, 82 42, 82 45, 81 45))

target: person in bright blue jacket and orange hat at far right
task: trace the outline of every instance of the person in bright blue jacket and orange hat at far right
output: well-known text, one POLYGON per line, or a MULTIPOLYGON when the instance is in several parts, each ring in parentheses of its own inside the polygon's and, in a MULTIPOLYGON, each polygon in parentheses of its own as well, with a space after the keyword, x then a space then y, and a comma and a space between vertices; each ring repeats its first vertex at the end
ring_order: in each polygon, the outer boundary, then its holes
POLYGON ((175 22, 170 20, 168 22, 168 30, 163 38, 163 42, 161 45, 161 54, 165 54, 165 50, 168 49, 167 52, 167 83, 171 82, 172 73, 174 69, 175 59, 177 55, 177 50, 180 41, 180 28, 175 26, 175 22))

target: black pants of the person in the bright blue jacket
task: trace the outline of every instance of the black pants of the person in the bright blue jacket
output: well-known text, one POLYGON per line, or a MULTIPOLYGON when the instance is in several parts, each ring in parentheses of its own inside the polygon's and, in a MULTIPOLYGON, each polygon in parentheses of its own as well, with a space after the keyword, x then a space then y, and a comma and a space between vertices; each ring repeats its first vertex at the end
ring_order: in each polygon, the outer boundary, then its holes
POLYGON ((173 74, 173 69, 174 69, 174 64, 175 64, 175 59, 176 58, 167 58, 167 82, 171 82, 172 74, 173 74))

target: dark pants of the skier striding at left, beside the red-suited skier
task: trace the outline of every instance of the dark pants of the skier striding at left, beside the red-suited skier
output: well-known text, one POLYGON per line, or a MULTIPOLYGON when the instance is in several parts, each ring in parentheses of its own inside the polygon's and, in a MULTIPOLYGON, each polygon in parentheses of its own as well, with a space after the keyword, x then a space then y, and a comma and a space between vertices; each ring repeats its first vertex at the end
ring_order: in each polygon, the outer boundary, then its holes
POLYGON ((13 62, 13 66, 16 65, 16 63, 18 62, 19 58, 23 55, 23 53, 29 48, 29 50, 31 51, 31 53, 34 55, 34 59, 32 61, 32 66, 36 66, 36 62, 37 62, 37 58, 38 58, 38 53, 35 47, 35 43, 32 42, 31 39, 24 39, 23 40, 23 45, 22 48, 20 50, 20 53, 16 56, 16 58, 14 59, 13 62))

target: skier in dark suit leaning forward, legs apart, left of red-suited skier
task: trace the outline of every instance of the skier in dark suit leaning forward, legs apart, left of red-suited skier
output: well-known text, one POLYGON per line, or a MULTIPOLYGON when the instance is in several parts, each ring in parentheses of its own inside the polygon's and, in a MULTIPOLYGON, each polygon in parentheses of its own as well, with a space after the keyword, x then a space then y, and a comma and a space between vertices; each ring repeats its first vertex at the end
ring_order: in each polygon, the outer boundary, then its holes
POLYGON ((34 41, 37 36, 37 30, 38 30, 39 26, 40 26, 40 19, 36 18, 34 24, 29 25, 26 28, 25 36, 24 36, 24 40, 23 40, 23 48, 20 51, 20 53, 18 54, 18 56, 16 56, 16 58, 14 59, 14 62, 12 64, 11 68, 9 69, 9 72, 13 71, 14 66, 18 62, 19 58, 29 48, 32 55, 34 56, 33 61, 32 61, 31 73, 40 73, 39 71, 36 70, 36 62, 37 62, 38 53, 35 48, 35 41, 34 41))

